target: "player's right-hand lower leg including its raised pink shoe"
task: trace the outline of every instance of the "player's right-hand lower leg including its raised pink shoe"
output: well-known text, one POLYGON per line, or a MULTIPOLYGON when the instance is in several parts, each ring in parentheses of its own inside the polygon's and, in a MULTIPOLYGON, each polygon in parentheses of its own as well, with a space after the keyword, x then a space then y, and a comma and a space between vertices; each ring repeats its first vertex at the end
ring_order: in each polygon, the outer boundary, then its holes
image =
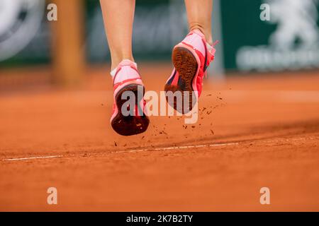
POLYGON ((167 102, 181 113, 190 112, 198 101, 216 52, 211 34, 213 0, 185 0, 185 4, 190 31, 173 49, 174 70, 164 87, 167 102))

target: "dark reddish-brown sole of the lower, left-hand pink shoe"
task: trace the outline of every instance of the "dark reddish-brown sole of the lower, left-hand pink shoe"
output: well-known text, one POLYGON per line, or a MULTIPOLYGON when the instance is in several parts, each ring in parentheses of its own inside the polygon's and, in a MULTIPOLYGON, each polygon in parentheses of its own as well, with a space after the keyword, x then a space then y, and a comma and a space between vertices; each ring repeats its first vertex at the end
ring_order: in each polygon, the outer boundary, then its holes
POLYGON ((116 131, 116 133, 122 136, 132 136, 139 133, 143 133, 147 130, 150 120, 142 111, 140 106, 140 101, 138 97, 143 97, 145 93, 145 88, 142 86, 142 89, 138 89, 138 84, 125 85, 121 90, 116 94, 116 107, 118 108, 118 114, 111 121, 111 126, 116 131), (141 93, 142 90, 142 93, 141 93), (122 100, 122 95, 125 91, 131 91, 135 94, 135 107, 138 106, 138 111, 141 115, 128 115, 124 116, 122 114, 122 106, 128 100, 122 100), (140 92, 140 93, 139 93, 140 92), (138 95, 139 94, 139 95, 138 95))

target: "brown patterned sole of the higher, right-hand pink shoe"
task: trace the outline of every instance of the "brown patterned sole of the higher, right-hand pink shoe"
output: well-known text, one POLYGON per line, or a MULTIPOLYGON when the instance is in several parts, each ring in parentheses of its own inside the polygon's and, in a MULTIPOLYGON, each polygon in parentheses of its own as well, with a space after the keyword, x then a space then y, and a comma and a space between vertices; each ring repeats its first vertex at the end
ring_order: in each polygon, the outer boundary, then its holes
POLYGON ((194 105, 197 102, 196 96, 192 95, 194 92, 193 82, 196 77, 198 63, 194 54, 185 47, 175 47, 172 53, 172 61, 176 71, 179 73, 179 81, 177 85, 169 84, 169 82, 165 85, 165 92, 172 91, 174 94, 176 91, 181 92, 182 96, 182 104, 181 106, 177 105, 176 97, 174 97, 174 103, 170 103, 168 101, 168 97, 166 97, 169 105, 174 107, 178 112, 185 114, 193 109, 194 105), (189 107, 188 109, 184 109, 184 92, 189 92, 189 107), (182 109, 180 109, 182 107, 182 109))

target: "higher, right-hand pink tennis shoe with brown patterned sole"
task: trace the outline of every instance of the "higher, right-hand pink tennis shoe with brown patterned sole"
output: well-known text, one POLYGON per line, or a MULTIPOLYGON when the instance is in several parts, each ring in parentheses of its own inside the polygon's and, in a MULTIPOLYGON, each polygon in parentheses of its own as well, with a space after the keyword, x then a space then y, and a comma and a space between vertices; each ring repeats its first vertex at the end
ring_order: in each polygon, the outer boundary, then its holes
POLYGON ((181 92, 181 105, 177 104, 176 98, 174 102, 169 102, 167 98, 169 105, 178 112, 190 112, 201 95, 203 76, 215 57, 216 49, 214 46, 215 44, 212 47, 206 42, 205 35, 200 30, 192 30, 183 41, 174 47, 172 61, 175 68, 172 75, 169 76, 164 90, 166 93, 172 91, 173 95, 177 91, 181 92), (186 93, 189 95, 189 105, 184 107, 187 100, 187 98, 184 100, 186 93))

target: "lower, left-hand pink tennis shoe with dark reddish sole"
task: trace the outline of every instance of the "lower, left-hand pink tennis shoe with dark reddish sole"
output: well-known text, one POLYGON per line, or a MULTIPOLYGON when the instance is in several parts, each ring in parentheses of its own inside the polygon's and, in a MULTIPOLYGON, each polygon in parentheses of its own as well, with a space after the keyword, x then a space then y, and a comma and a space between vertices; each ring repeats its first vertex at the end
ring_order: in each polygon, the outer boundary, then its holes
POLYGON ((111 76, 114 90, 111 126, 114 131, 123 136, 146 131, 150 121, 144 112, 145 88, 137 65, 133 61, 123 60, 111 71, 111 76), (129 96, 135 97, 134 106, 128 103, 129 96))

